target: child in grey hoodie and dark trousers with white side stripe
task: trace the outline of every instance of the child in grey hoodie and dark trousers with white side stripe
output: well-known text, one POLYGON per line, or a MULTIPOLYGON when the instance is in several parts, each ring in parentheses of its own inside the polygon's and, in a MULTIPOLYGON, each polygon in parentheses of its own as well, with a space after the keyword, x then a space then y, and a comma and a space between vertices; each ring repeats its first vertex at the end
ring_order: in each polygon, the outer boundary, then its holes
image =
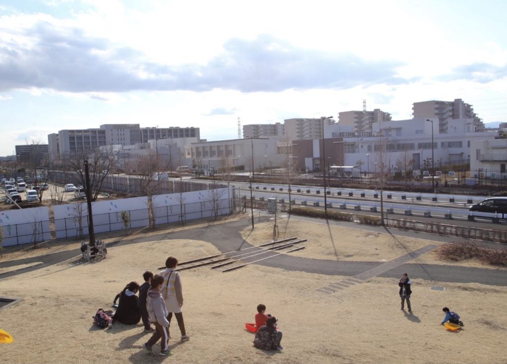
POLYGON ((152 352, 152 346, 162 339, 160 342, 160 355, 170 356, 171 351, 167 341, 169 340, 169 321, 167 321, 167 308, 165 307, 164 299, 160 293, 164 278, 158 274, 153 277, 151 281, 151 289, 148 291, 148 297, 146 301, 146 309, 148 311, 148 317, 150 321, 155 325, 155 332, 146 344, 142 344, 142 347, 149 352, 152 352))

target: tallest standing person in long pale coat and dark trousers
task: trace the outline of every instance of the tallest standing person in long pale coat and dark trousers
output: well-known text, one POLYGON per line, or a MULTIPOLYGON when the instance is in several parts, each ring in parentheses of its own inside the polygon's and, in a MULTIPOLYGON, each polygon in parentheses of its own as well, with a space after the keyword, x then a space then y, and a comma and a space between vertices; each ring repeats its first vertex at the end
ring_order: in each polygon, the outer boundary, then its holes
POLYGON ((172 314, 174 313, 174 316, 176 316, 176 320, 178 321, 179 330, 182 334, 181 341, 188 341, 190 340, 190 337, 187 335, 187 332, 185 330, 185 322, 183 321, 182 312, 182 280, 179 276, 179 273, 174 271, 177 265, 178 259, 175 257, 170 256, 166 259, 166 269, 159 273, 159 275, 164 278, 161 293, 167 306, 167 311, 169 312, 167 320, 171 322, 172 314))

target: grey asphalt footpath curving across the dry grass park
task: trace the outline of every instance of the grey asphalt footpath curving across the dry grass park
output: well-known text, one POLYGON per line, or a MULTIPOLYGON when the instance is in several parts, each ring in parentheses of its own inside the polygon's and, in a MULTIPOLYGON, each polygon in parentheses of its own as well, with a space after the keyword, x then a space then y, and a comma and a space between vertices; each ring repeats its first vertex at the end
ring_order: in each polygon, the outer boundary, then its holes
MULTIPOLYGON (((262 220, 266 221, 265 217, 261 217, 262 220)), ((258 218, 256 217, 256 221, 258 218)), ((314 223, 328 224, 325 220, 308 219, 314 223)), ((250 224, 250 220, 242 219, 235 220, 223 224, 215 224, 208 226, 195 227, 190 230, 173 231, 171 233, 162 233, 156 236, 149 237, 132 237, 130 239, 123 239, 122 241, 113 242, 107 244, 107 247, 113 247, 115 245, 124 244, 135 244, 147 241, 156 241, 163 239, 199 239, 205 240, 212 243, 221 252, 230 252, 233 250, 250 247, 251 245, 246 243, 241 236, 240 231, 250 224)), ((368 225, 357 225, 353 223, 345 223, 341 221, 330 221, 330 225, 340 225, 344 227, 353 227, 356 229, 363 229, 368 231, 376 231, 378 233, 389 233, 399 236, 410 236, 424 239, 431 239, 434 241, 453 241, 456 238, 452 237, 441 237, 436 235, 416 233, 414 231, 404 231, 396 229, 385 229, 379 226, 368 226, 368 225)), ((299 237, 304 239, 305 237, 299 237)), ((430 243, 430 241, 428 241, 430 243)), ((431 245, 431 244, 428 244, 431 245)), ((492 246, 498 246, 492 245, 492 246)), ((504 247, 504 246, 503 246, 504 247)), ((426 248, 426 247, 425 247, 426 248)), ((427 249, 430 249, 428 247, 427 249)), ((42 261, 42 264, 38 264, 34 267, 28 267, 15 272, 7 272, 0 274, 0 279, 10 277, 16 274, 33 271, 47 267, 51 264, 72 258, 81 254, 79 249, 67 252, 60 252, 55 254, 48 254, 33 258, 25 258, 13 261, 0 262, 0 268, 17 266, 20 264, 31 263, 35 261, 42 261)), ((276 254, 276 252, 270 252, 267 254, 276 254)), ((411 253, 409 253, 411 254, 411 253)), ((414 253, 412 253, 414 254, 414 253)), ((266 255, 267 256, 267 255, 266 255)), ((507 272, 502 270, 494 269, 481 269, 481 268, 468 268, 468 267, 455 267, 455 266, 444 266, 438 264, 418 264, 410 263, 410 259, 407 259, 409 255, 396 258, 396 263, 391 265, 382 262, 373 261, 340 261, 340 260, 322 260, 312 259, 304 257, 291 256, 289 254, 278 255, 273 259, 265 259, 257 262, 267 267, 281 268, 288 271, 303 271, 308 273, 317 273, 325 275, 340 275, 355 277, 356 280, 362 280, 361 277, 368 277, 371 274, 376 273, 378 277, 384 278, 398 278, 402 273, 408 272, 412 279, 425 279, 434 280, 438 282, 457 282, 457 283, 469 283, 476 282, 481 284, 490 284, 497 286, 507 286, 507 272), (404 262, 407 261, 407 262, 404 262), (385 265, 384 265, 385 264, 385 265), (401 265, 400 265, 401 264, 401 265), (357 278, 359 277, 359 278, 357 278)), ((248 261, 248 259, 244 259, 248 261)), ((255 260, 252 258, 252 260, 255 260)), ((390 263, 390 262, 387 262, 390 263)), ((161 261, 157 265, 154 264, 154 269, 163 265, 161 261)), ((227 274, 227 273, 224 273, 227 274)))

